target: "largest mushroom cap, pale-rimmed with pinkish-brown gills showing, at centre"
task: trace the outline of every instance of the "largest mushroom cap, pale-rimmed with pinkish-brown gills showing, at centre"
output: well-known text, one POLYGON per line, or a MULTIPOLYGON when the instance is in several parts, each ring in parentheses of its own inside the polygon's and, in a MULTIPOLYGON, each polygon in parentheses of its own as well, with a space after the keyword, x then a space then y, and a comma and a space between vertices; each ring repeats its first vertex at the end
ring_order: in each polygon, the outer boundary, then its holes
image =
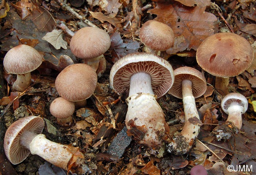
POLYGON ((118 94, 129 94, 130 77, 136 72, 151 76, 151 86, 157 95, 166 94, 173 84, 172 66, 152 53, 131 53, 118 60, 110 71, 110 85, 118 94))

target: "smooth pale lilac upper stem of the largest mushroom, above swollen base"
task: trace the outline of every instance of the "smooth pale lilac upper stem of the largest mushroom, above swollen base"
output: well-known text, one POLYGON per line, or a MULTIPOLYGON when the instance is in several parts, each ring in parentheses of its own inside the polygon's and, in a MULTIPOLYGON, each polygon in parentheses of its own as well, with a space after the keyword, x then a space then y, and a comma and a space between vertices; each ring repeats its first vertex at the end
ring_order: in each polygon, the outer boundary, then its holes
POLYGON ((146 72, 137 72, 131 76, 129 96, 140 92, 154 95, 151 76, 146 72))

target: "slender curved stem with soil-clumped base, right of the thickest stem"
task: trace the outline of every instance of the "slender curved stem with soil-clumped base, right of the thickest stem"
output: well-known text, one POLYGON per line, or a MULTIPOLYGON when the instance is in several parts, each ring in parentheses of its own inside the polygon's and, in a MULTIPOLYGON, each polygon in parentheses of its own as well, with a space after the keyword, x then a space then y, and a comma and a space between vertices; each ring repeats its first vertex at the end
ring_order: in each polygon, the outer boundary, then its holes
POLYGON ((173 136, 173 142, 168 147, 169 152, 176 155, 187 153, 199 134, 200 119, 196 109, 195 98, 192 94, 192 81, 182 80, 182 97, 185 114, 185 124, 182 131, 173 136))

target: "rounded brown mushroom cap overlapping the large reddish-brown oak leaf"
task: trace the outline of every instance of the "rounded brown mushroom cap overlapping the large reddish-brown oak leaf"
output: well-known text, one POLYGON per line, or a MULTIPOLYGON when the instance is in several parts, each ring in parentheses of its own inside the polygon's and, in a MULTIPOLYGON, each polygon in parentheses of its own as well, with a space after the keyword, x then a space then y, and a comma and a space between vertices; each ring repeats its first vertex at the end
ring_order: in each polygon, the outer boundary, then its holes
POLYGON ((139 34, 140 40, 146 47, 155 51, 165 51, 173 46, 174 33, 169 25, 156 20, 143 24, 139 34))

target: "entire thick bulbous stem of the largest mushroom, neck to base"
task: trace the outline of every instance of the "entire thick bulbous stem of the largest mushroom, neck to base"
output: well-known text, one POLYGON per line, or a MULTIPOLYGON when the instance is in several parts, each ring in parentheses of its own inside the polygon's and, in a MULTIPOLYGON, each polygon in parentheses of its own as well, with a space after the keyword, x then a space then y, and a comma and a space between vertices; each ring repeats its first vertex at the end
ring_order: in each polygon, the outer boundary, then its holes
POLYGON ((162 146, 161 135, 169 132, 163 111, 156 101, 151 87, 151 77, 138 72, 131 76, 125 124, 128 135, 134 136, 139 144, 146 144, 153 149, 162 146))

